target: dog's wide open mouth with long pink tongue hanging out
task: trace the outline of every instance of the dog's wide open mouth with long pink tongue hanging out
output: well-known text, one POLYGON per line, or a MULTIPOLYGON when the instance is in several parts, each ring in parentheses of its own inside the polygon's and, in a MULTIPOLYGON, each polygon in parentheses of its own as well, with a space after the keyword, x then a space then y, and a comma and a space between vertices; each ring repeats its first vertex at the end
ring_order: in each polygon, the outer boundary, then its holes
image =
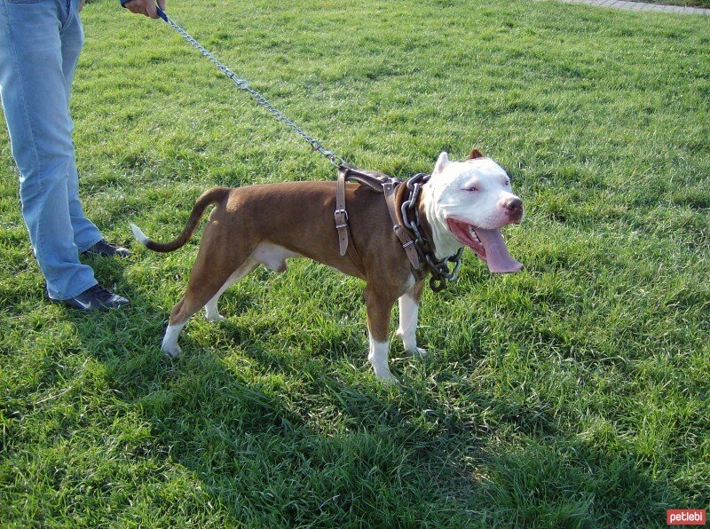
POLYGON ((501 230, 484 230, 461 220, 447 218, 449 231, 461 244, 472 249, 477 257, 483 259, 488 270, 493 273, 520 272, 522 263, 518 263, 508 252, 501 230))

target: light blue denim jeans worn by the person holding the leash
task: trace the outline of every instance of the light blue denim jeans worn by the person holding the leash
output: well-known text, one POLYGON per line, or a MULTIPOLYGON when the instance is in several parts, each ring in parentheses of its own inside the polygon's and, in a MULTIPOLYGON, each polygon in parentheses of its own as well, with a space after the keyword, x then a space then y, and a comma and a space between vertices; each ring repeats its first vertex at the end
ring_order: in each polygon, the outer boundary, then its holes
POLYGON ((0 98, 22 217, 53 299, 97 283, 79 252, 101 240, 78 194, 69 95, 83 44, 78 0, 0 0, 0 98))

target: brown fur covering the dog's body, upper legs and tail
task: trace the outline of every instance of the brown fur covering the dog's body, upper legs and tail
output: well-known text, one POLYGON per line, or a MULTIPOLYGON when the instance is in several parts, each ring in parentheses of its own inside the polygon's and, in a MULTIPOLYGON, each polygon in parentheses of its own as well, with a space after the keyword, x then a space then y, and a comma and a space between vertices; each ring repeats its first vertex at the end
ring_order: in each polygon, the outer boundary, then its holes
MULTIPOLYGON (((398 203, 405 187, 398 189, 398 203)), ((362 258, 364 275, 350 257, 340 256, 338 251, 334 182, 210 189, 195 203, 183 233, 166 244, 148 241, 147 248, 172 251, 183 246, 210 203, 216 207, 202 234, 185 295, 170 313, 171 325, 185 322, 207 304, 265 241, 366 280, 367 327, 378 342, 387 340, 392 306, 398 297, 409 291, 418 301, 422 294, 422 280, 412 283, 409 261, 391 229, 383 195, 357 184, 346 185, 346 204, 351 244, 362 258)), ((278 267, 285 269, 285 264, 278 267)))

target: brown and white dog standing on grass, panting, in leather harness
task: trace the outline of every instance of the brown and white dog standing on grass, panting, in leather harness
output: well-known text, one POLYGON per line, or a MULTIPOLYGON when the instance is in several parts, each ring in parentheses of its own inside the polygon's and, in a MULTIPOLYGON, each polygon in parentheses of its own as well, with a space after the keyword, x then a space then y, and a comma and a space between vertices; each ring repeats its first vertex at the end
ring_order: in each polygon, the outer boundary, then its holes
MULTIPOLYGON (((370 343, 367 359, 377 376, 396 382, 388 366, 390 314, 398 301, 397 336, 406 351, 425 355, 414 333, 424 282, 417 279, 392 231, 383 196, 355 183, 346 184, 345 194, 350 243, 361 257, 364 272, 338 251, 333 222, 335 182, 215 187, 197 200, 183 233, 165 244, 150 241, 138 226, 130 225, 148 249, 170 252, 184 246, 204 210, 210 204, 216 206, 204 229, 185 295, 170 312, 162 351, 173 358, 180 354, 177 336, 202 307, 208 320, 223 320, 217 312, 219 296, 258 265, 284 272, 289 257, 308 257, 367 281, 363 291, 370 343)), ((522 221, 523 201, 513 194, 506 171, 493 160, 476 149, 465 162, 449 162, 442 153, 421 196, 420 219, 438 259, 468 246, 491 272, 522 268, 510 257, 501 227, 522 221)), ((397 204, 406 200, 406 186, 397 187, 396 200, 397 204)))

